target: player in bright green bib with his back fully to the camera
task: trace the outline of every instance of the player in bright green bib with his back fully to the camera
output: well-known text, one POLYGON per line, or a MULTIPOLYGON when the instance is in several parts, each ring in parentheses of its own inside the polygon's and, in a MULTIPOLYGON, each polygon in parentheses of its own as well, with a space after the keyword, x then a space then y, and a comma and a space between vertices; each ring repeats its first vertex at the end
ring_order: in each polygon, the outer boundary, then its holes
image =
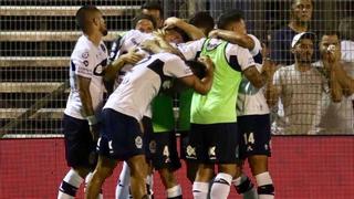
MULTIPOLYGON (((235 15, 233 12, 222 14, 218 28, 236 29, 237 18, 238 13, 235 15)), ((210 197, 227 198, 231 180, 237 172, 236 101, 241 73, 256 87, 261 87, 267 78, 257 70, 254 60, 247 49, 223 40, 202 39, 181 45, 179 50, 187 60, 195 59, 200 53, 209 55, 216 63, 211 91, 206 96, 195 93, 191 102, 191 129, 187 158, 199 164, 192 186, 194 197, 207 198, 216 164, 219 166, 219 172, 211 186, 210 197)))

